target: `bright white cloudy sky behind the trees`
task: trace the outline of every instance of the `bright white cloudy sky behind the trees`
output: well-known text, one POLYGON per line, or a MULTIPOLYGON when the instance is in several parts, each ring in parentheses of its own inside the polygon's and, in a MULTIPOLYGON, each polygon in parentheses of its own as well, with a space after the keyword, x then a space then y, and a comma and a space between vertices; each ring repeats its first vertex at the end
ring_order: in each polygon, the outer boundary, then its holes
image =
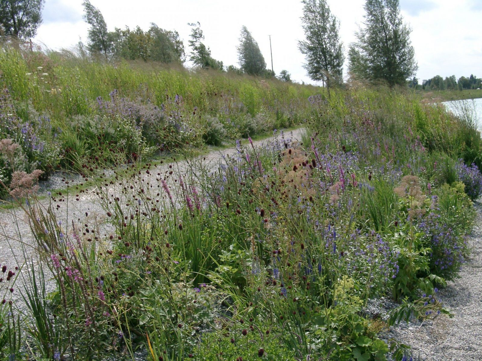
MULTIPOLYGON (((354 32, 363 22, 364 0, 328 0, 340 20, 340 38, 348 52, 354 32)), ((269 35, 276 74, 286 69, 292 79, 312 83, 303 68, 297 41, 304 38, 298 0, 91 0, 100 9, 109 30, 150 23, 177 30, 187 48, 190 27, 201 23, 204 43, 214 59, 238 66, 236 46, 245 25, 271 66, 269 35)), ((82 0, 46 0, 43 23, 35 40, 51 49, 68 48, 87 41, 82 0)), ((402 15, 413 29, 411 39, 418 62, 417 77, 435 75, 482 76, 482 0, 400 0, 402 15)), ((187 48, 187 53, 190 50, 187 48)), ((187 64, 188 65, 188 64, 187 64)), ((343 69, 346 74, 346 66, 343 69)))

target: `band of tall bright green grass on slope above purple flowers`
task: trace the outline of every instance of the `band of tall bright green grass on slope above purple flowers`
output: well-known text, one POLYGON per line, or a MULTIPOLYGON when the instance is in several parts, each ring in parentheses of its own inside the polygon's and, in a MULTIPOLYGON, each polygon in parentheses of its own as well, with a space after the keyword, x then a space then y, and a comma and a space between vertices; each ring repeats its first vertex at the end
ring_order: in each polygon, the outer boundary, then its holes
POLYGON ((320 88, 237 76, 215 71, 187 71, 159 64, 101 64, 53 53, 28 54, 7 50, 0 52, 4 84, 14 100, 30 101, 39 112, 49 112, 55 120, 95 111, 97 97, 109 98, 110 92, 157 106, 176 94, 183 96, 188 109, 219 110, 220 96, 232 96, 255 115, 278 103, 306 100, 320 88), (41 68, 39 68, 41 67, 41 68))

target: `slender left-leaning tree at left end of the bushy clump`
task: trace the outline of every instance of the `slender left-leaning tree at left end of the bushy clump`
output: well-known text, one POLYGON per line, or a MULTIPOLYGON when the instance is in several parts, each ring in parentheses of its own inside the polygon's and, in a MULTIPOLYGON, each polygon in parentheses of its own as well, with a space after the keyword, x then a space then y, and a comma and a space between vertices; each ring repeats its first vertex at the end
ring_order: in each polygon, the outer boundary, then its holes
POLYGON ((82 6, 84 7, 83 18, 90 25, 87 49, 91 53, 102 53, 108 58, 112 50, 113 34, 107 31, 106 21, 99 9, 94 7, 89 0, 85 0, 82 6))

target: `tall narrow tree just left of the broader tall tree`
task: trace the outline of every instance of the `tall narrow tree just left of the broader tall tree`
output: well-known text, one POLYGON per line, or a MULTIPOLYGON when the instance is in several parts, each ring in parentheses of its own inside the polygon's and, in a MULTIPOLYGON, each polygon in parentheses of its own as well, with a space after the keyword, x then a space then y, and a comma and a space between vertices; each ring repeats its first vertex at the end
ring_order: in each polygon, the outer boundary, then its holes
POLYGON ((326 0, 303 0, 302 26, 306 40, 299 41, 298 47, 306 56, 305 69, 313 80, 326 82, 330 89, 331 79, 342 82, 345 56, 343 43, 338 31, 340 24, 330 12, 326 0))

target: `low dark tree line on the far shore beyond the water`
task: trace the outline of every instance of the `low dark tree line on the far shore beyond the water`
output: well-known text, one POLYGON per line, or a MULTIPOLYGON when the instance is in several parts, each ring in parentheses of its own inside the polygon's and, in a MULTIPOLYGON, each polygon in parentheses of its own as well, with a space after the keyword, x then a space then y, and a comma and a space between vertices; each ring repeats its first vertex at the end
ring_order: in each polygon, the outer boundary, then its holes
POLYGON ((482 78, 478 78, 473 74, 470 77, 459 77, 458 80, 455 75, 451 77, 441 77, 436 75, 430 79, 422 81, 419 84, 418 79, 414 77, 407 82, 409 88, 422 89, 422 90, 469 90, 469 89, 481 89, 482 78))

